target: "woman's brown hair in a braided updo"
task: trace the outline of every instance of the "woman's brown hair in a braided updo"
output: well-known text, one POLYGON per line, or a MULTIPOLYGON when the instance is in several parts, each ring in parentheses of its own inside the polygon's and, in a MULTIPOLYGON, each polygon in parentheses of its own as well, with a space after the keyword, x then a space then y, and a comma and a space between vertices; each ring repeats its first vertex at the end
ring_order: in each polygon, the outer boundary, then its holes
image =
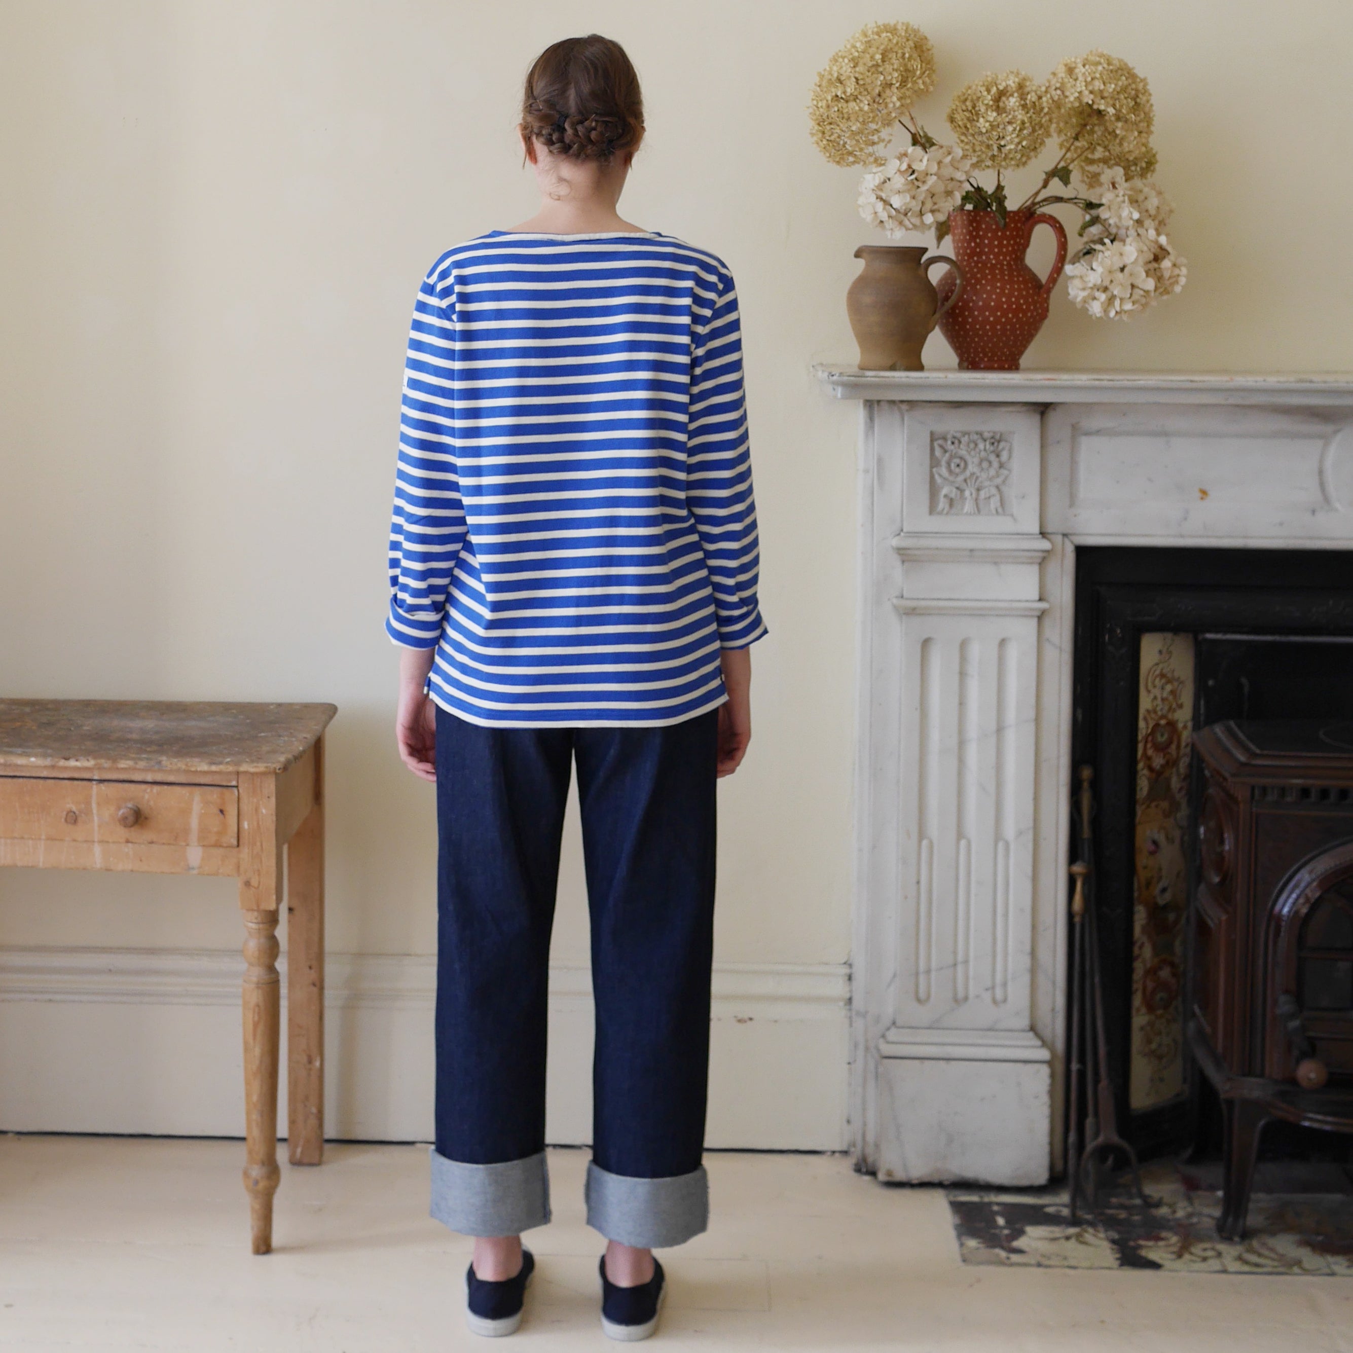
POLYGON ((625 49, 590 32, 536 57, 521 100, 521 130, 575 160, 610 160, 644 135, 644 97, 625 49))

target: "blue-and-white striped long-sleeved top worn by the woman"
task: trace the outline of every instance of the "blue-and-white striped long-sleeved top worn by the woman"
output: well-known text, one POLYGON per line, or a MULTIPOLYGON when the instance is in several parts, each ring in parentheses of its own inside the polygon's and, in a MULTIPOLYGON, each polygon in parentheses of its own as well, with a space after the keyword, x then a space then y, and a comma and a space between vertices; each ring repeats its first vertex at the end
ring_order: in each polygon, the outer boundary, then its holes
POLYGON ((491 230, 409 334, 390 614, 475 724, 662 725, 766 633, 737 294, 652 233, 491 230))

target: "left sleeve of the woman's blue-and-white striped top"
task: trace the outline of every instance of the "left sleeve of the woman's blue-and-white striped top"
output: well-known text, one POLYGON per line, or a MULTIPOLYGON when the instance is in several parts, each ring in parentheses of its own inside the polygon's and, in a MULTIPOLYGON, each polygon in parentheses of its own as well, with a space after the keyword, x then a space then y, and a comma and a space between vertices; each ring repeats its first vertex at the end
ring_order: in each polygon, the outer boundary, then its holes
POLYGON ((437 279, 434 265, 418 291, 409 330, 390 525, 386 633, 406 648, 436 648, 465 543, 452 410, 453 322, 437 279))

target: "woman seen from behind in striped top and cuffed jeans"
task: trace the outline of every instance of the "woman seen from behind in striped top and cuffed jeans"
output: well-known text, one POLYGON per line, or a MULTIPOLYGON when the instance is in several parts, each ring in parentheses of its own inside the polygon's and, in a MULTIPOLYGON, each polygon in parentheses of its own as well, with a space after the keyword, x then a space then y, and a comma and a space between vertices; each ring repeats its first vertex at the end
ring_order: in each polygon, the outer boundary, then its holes
POLYGON ((549 1220, 545 1007, 571 763, 597 1042, 587 1220, 602 1323, 658 1322, 655 1246, 708 1220, 714 781, 751 737, 758 540, 737 299, 624 221, 639 78, 548 47, 521 138, 540 211, 433 264, 405 377, 390 637, 399 751, 437 785, 432 1215, 474 1235, 471 1327, 510 1334, 549 1220))

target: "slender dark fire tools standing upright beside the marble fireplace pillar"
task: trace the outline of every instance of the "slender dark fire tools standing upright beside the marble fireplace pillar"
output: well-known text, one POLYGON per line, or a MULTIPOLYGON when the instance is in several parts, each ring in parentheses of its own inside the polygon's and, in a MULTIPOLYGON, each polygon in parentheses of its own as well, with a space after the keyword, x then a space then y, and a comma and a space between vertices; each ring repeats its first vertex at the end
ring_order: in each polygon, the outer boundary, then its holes
POLYGON ((1132 1184, 1142 1207, 1150 1207, 1142 1188, 1137 1151, 1118 1131, 1114 1085, 1108 1073, 1108 1040, 1104 1034, 1104 985, 1100 976, 1099 924, 1095 907, 1095 865, 1091 823, 1095 770, 1081 766, 1076 819, 1080 825, 1080 859, 1072 865, 1072 1057, 1066 1131, 1066 1165, 1070 1173, 1072 1220, 1078 1220, 1081 1192, 1093 1210, 1099 1203, 1100 1169, 1115 1151, 1127 1157, 1132 1184), (1081 1147, 1081 1086, 1085 1095, 1085 1146, 1081 1147))

